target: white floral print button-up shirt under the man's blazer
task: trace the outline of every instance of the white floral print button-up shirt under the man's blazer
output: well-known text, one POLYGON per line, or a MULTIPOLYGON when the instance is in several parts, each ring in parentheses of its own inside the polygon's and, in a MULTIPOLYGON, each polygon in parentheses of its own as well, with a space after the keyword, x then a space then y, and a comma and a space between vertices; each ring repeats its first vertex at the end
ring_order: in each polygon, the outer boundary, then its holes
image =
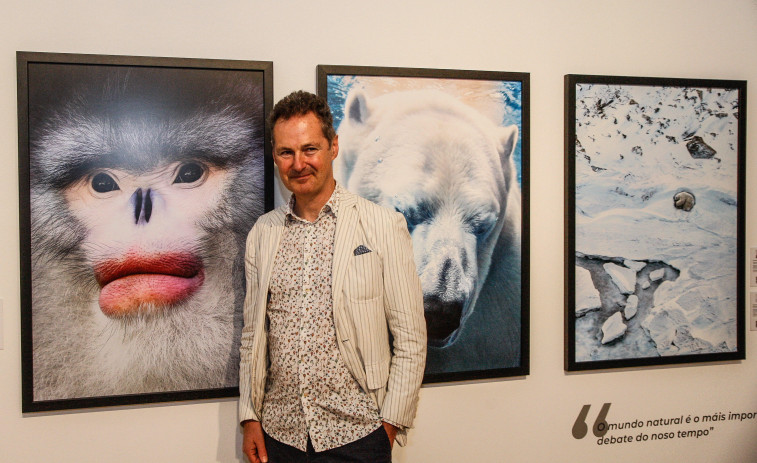
POLYGON ((262 424, 266 433, 317 452, 367 436, 381 426, 376 404, 347 369, 332 315, 331 265, 342 187, 314 222, 287 219, 269 285, 268 358, 262 424))

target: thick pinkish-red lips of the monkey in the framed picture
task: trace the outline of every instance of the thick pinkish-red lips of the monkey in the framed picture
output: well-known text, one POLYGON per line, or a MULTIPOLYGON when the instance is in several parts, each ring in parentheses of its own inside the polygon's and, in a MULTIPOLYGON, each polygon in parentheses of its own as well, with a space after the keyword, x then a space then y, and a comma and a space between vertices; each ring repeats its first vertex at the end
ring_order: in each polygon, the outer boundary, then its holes
POLYGON ((127 253, 95 266, 100 309, 110 317, 135 315, 180 303, 205 280, 200 259, 191 253, 127 253))

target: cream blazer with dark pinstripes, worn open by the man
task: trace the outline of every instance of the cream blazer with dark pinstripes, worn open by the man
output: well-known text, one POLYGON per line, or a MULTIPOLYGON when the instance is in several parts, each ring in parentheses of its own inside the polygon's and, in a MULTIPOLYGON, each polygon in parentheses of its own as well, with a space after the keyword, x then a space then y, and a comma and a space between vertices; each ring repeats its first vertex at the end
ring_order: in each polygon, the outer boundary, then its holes
MULTIPOLYGON (((285 210, 282 206, 260 217, 247 236, 240 421, 259 421, 262 415, 268 370, 265 310, 285 210)), ((426 322, 404 217, 344 191, 332 272, 334 326, 347 368, 382 419, 411 427, 426 361, 426 322)), ((405 439, 406 429, 400 429, 397 442, 404 445, 405 439)))

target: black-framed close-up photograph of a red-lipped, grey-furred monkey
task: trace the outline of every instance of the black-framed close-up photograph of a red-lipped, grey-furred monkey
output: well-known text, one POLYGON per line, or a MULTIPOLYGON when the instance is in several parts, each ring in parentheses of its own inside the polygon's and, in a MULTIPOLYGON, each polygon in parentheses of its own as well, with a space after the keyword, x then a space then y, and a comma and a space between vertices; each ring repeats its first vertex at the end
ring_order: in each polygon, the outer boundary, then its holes
POLYGON ((17 66, 23 411, 237 395, 273 64, 17 66))

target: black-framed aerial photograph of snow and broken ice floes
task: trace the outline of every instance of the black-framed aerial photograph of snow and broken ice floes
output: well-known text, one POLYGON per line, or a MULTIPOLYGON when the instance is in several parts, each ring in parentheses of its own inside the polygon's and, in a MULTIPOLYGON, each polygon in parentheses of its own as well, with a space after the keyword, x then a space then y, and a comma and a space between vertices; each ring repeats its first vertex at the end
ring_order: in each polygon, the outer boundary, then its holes
POLYGON ((744 351, 746 82, 565 77, 566 370, 744 351))

